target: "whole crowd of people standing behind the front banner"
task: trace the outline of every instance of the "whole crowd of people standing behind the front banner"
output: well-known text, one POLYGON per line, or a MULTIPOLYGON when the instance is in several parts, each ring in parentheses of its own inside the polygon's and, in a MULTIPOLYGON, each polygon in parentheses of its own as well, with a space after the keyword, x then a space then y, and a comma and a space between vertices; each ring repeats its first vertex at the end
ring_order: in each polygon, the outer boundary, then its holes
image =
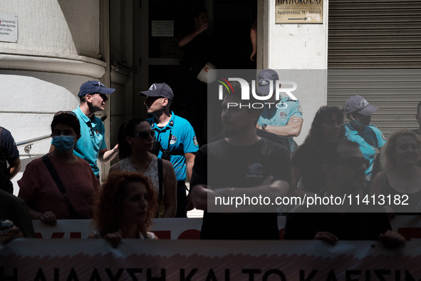
MULTIPOLYGON (((261 71, 259 95, 271 94, 277 80, 276 71, 261 71)), ((105 109, 115 89, 98 81, 83 83, 80 106, 53 116, 51 150, 26 166, 19 198, 9 194, 10 180, 20 169, 19 152, 1 128, 0 218, 14 223, 0 230, 1 240, 33 237, 31 219, 56 225, 57 220, 89 218, 95 227, 89 237, 103 237, 117 247, 123 238, 157 238, 149 232, 152 219, 186 218, 194 207, 204 210, 202 239, 277 240, 279 209, 242 206, 233 212, 214 204, 216 198, 369 195, 377 200, 390 195, 406 196, 408 205, 389 200, 370 210, 356 210, 351 203, 293 206, 287 210, 285 238, 402 245, 405 239, 392 231, 389 220, 421 210, 421 102, 420 128, 397 131, 388 141, 370 123, 378 108, 362 96, 351 96, 343 108, 321 106, 298 146, 293 136, 303 124, 299 101, 282 98, 276 102, 287 106, 279 108, 230 108, 227 104, 241 101, 239 85, 232 85, 222 101, 223 131, 208 144, 199 148, 189 121, 170 111, 170 86, 153 83, 139 93, 152 118, 122 123, 118 144, 108 150, 105 127, 95 113, 105 109), (98 160, 108 163, 116 155, 120 162, 100 185, 98 160)))

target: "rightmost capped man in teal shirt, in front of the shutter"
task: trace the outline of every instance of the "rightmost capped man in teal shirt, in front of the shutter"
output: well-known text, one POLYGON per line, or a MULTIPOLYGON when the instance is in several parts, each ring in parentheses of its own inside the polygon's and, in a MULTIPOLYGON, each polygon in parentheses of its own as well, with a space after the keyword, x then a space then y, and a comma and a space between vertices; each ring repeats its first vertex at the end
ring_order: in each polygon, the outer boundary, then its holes
POLYGON ((345 125, 345 138, 358 143, 365 159, 370 160, 370 164, 365 170, 365 188, 370 187, 374 156, 376 148, 380 151, 386 143, 383 133, 370 123, 371 116, 378 107, 371 105, 362 96, 351 96, 343 106, 346 117, 350 120, 345 125))

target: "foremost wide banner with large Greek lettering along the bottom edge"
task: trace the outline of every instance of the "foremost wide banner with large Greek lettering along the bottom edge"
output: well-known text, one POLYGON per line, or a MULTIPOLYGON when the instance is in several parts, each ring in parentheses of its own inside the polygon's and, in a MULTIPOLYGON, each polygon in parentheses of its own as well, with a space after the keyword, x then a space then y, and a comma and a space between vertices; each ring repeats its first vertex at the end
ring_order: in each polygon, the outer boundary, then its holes
POLYGON ((0 280, 420 280, 421 242, 20 239, 0 280))

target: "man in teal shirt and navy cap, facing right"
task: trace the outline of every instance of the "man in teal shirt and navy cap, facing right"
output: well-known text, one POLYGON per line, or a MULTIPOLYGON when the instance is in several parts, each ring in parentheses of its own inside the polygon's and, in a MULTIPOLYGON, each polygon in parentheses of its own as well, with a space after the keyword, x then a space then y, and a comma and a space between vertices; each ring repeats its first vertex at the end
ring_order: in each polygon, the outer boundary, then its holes
POLYGON ((102 163, 113 160, 118 154, 118 144, 113 149, 107 150, 103 121, 94 113, 105 109, 107 95, 114 91, 114 88, 107 88, 98 81, 85 82, 80 86, 78 94, 80 106, 73 111, 78 116, 81 135, 73 153, 89 163, 98 179, 100 169, 97 160, 99 159, 102 163))

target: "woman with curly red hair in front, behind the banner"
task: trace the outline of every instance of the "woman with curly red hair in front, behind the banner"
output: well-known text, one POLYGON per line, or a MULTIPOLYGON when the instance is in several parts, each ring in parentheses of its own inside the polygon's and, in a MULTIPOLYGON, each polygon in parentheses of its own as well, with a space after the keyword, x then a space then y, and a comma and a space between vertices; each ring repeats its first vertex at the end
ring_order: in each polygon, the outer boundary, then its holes
POLYGON ((132 172, 110 173, 98 195, 94 211, 97 231, 88 238, 105 238, 113 247, 121 239, 157 239, 148 232, 157 210, 152 183, 132 172))

